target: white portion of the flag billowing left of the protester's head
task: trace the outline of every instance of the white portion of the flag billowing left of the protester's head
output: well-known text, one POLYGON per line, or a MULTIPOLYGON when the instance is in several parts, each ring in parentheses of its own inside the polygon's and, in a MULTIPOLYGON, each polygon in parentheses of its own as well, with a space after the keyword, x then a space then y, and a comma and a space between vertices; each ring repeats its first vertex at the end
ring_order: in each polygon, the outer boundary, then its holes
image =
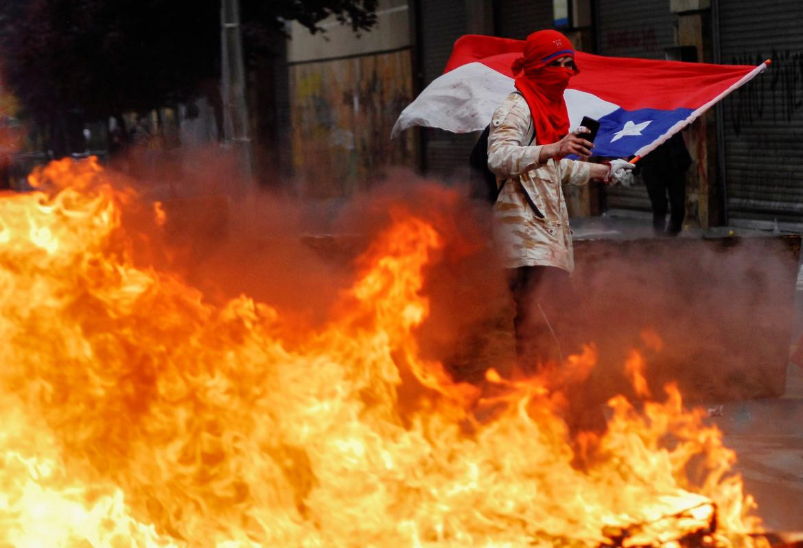
POLYGON ((454 133, 479 131, 513 89, 509 76, 483 63, 464 64, 432 80, 399 115, 390 137, 414 125, 454 133))

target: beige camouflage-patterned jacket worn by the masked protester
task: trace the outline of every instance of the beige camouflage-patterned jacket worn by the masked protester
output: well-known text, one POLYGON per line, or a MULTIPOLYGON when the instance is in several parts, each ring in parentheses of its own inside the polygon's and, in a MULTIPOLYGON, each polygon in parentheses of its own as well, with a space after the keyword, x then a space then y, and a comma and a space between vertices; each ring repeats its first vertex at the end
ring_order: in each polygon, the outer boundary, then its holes
POLYGON ((572 272, 572 233, 561 186, 587 184, 590 165, 552 158, 539 163, 541 146, 535 141, 527 146, 532 132, 527 101, 511 93, 496 108, 488 135, 488 168, 497 184, 507 179, 494 204, 495 239, 507 268, 543 265, 572 272), (543 218, 533 211, 524 190, 543 218))

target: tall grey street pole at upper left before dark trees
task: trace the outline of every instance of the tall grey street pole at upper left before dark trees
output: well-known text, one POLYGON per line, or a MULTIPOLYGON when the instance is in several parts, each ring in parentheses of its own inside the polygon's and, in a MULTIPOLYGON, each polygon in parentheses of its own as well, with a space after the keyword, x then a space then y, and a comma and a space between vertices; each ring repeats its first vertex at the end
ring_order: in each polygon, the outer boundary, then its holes
POLYGON ((243 181, 251 182, 253 151, 248 135, 243 40, 240 32, 239 0, 220 4, 221 84, 223 99, 223 143, 233 150, 243 181))

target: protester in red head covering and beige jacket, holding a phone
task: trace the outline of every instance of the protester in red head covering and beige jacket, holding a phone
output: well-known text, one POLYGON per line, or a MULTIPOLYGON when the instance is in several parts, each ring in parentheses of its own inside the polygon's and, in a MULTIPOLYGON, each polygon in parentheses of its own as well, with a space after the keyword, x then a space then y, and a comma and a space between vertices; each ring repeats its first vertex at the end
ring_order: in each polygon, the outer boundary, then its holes
POLYGON ((569 284, 574 268, 569 213, 561 186, 589 179, 611 182, 634 168, 566 159, 591 155, 585 128, 569 133, 563 92, 580 72, 569 39, 557 31, 528 36, 512 65, 516 91, 491 118, 488 168, 500 186, 494 204, 495 239, 516 302, 516 353, 535 371, 578 350, 569 341, 577 307, 569 284))

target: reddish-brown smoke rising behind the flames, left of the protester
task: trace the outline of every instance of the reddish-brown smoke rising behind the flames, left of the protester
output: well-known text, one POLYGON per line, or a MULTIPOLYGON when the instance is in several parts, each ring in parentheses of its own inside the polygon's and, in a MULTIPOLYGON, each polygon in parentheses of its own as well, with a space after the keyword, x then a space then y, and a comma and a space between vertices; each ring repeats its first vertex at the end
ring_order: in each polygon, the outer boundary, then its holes
MULTIPOLYGON (((141 262, 176 272, 206 299, 245 294, 304 325, 326 321, 360 268, 355 261, 394 216, 426 220, 443 247, 423 288, 430 300, 418 329, 424 357, 444 362, 461 380, 479 380, 489 366, 510 369, 509 302, 491 243, 490 207, 467 198, 467 188, 394 170, 348 199, 304 199, 250 187, 230 156, 208 149, 133 171, 137 177, 118 176, 120 184, 159 202, 167 219, 164 231, 149 230, 141 262)), ((128 230, 145 231, 148 213, 128 211, 128 230)))

